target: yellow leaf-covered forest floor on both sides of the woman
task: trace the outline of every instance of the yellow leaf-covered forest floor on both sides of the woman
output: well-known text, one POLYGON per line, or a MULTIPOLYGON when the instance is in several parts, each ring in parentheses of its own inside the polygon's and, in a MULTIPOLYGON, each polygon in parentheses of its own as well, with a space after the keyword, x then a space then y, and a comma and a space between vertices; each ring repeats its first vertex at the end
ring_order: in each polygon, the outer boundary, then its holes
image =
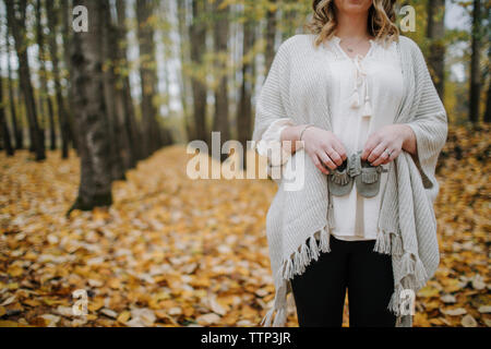
MULTIPOLYGON (((441 264, 416 326, 490 326, 489 128, 452 128, 438 170, 441 264)), ((274 298, 268 180, 190 180, 183 146, 113 184, 115 205, 64 213, 79 160, 0 155, 0 326, 256 326, 274 298), (75 316, 75 290, 88 314, 75 316)), ((348 325, 348 311, 345 312, 348 325)), ((292 304, 288 326, 297 326, 292 304)))

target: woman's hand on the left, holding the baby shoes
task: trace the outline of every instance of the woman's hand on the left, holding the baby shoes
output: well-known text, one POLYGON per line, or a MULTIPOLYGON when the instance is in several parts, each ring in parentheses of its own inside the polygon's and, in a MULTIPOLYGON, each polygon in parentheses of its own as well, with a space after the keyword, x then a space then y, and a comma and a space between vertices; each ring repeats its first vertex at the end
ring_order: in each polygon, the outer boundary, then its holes
POLYGON ((303 131, 302 141, 307 154, 324 174, 330 173, 325 166, 335 170, 347 158, 343 143, 332 131, 310 127, 303 131))

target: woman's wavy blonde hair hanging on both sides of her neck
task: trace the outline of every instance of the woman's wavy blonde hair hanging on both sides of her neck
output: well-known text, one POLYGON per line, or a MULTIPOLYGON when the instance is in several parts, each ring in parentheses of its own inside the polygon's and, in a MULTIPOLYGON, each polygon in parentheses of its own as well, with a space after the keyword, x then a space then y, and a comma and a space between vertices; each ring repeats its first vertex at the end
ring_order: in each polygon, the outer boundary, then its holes
MULTIPOLYGON (((399 29, 394 24, 396 20, 395 0, 373 0, 368 14, 368 32, 375 40, 383 44, 397 41, 399 29)), ((306 25, 312 34, 316 35, 315 46, 330 40, 336 31, 337 20, 334 10, 334 0, 313 0, 312 20, 306 25)))

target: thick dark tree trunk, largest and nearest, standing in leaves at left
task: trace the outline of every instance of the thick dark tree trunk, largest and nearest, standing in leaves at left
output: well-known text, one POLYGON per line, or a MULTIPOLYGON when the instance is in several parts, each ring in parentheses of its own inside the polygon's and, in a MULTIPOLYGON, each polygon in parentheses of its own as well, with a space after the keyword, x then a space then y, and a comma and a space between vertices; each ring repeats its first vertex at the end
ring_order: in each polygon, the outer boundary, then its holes
POLYGON ((73 34, 73 103, 81 156, 81 181, 79 196, 73 209, 91 210, 112 204, 109 125, 104 97, 104 74, 100 47, 104 21, 99 0, 75 0, 91 13, 89 31, 73 34))

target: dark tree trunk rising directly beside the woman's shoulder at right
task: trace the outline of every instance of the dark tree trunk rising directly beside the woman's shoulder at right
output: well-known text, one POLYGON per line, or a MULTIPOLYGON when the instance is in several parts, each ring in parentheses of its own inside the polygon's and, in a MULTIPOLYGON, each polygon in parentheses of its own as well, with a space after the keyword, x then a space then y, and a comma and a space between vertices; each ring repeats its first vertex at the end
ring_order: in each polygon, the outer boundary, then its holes
POLYGON ((443 100, 445 83, 445 0, 428 1, 427 37, 430 39, 428 65, 433 83, 443 100))

